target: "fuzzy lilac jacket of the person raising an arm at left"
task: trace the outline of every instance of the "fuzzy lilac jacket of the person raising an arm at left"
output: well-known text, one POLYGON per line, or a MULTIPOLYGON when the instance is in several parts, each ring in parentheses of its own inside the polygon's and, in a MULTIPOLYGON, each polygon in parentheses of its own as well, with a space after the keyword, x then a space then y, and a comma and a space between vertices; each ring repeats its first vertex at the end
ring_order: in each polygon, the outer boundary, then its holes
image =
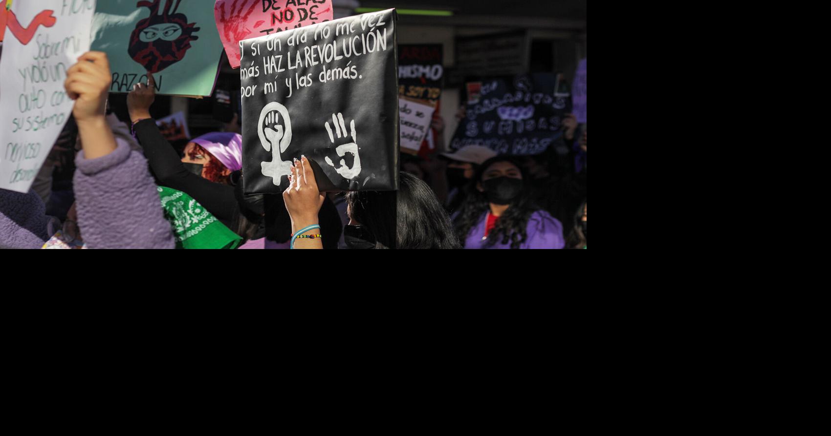
MULTIPOLYGON (((175 248, 170 223, 144 156, 123 140, 111 154, 75 159, 78 228, 89 248, 175 248)), ((0 248, 40 248, 52 237, 45 207, 33 191, 0 189, 0 248)))

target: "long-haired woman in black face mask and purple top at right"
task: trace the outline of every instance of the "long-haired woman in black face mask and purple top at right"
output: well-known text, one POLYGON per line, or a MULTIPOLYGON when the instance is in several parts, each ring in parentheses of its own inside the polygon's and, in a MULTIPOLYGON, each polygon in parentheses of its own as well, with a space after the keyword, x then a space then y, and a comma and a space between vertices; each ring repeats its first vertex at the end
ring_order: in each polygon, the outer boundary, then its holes
POLYGON ((455 218, 465 248, 563 248, 563 225, 534 206, 514 159, 486 160, 455 218))

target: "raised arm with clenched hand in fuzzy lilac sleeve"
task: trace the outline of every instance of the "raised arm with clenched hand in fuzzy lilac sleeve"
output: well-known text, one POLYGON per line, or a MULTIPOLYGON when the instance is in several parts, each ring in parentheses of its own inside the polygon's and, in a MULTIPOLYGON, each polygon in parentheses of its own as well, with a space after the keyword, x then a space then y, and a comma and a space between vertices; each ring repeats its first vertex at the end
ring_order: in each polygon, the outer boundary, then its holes
POLYGON ((110 63, 101 51, 87 52, 66 71, 82 146, 74 178, 78 227, 90 248, 174 248, 144 157, 117 142, 107 124, 110 84, 110 63))

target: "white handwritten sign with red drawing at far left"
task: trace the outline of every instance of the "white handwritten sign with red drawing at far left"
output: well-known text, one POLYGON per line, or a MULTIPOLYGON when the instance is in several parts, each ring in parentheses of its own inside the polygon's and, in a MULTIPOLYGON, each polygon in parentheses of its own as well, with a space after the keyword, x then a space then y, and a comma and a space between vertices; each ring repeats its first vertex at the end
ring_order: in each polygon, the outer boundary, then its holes
POLYGON ((69 119, 75 102, 63 82, 66 70, 90 50, 95 8, 95 0, 12 3, 10 13, 34 33, 6 32, 3 41, 0 189, 28 192, 69 119))

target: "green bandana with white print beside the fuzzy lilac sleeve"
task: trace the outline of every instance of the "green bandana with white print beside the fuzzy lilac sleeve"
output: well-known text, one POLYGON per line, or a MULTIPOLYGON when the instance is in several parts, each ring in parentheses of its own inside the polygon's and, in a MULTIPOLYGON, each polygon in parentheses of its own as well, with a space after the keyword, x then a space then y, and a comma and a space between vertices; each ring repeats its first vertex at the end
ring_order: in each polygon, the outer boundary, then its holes
POLYGON ((239 246, 243 238, 220 223, 194 198, 182 191, 160 186, 161 207, 176 237, 176 248, 229 249, 239 246))

